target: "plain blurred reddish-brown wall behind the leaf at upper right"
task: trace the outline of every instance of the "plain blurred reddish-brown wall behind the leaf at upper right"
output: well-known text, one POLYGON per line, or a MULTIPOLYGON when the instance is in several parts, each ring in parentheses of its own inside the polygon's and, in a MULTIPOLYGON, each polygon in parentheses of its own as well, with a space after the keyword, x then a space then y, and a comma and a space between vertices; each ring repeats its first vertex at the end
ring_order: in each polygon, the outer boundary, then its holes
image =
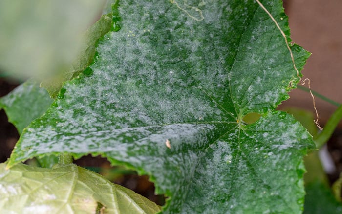
MULTIPOLYGON (((302 73, 311 88, 342 103, 342 0, 284 0, 291 38, 312 53, 302 73)), ((280 106, 313 111, 309 93, 295 89, 280 106)), ((337 108, 316 98, 321 125, 337 108)))

